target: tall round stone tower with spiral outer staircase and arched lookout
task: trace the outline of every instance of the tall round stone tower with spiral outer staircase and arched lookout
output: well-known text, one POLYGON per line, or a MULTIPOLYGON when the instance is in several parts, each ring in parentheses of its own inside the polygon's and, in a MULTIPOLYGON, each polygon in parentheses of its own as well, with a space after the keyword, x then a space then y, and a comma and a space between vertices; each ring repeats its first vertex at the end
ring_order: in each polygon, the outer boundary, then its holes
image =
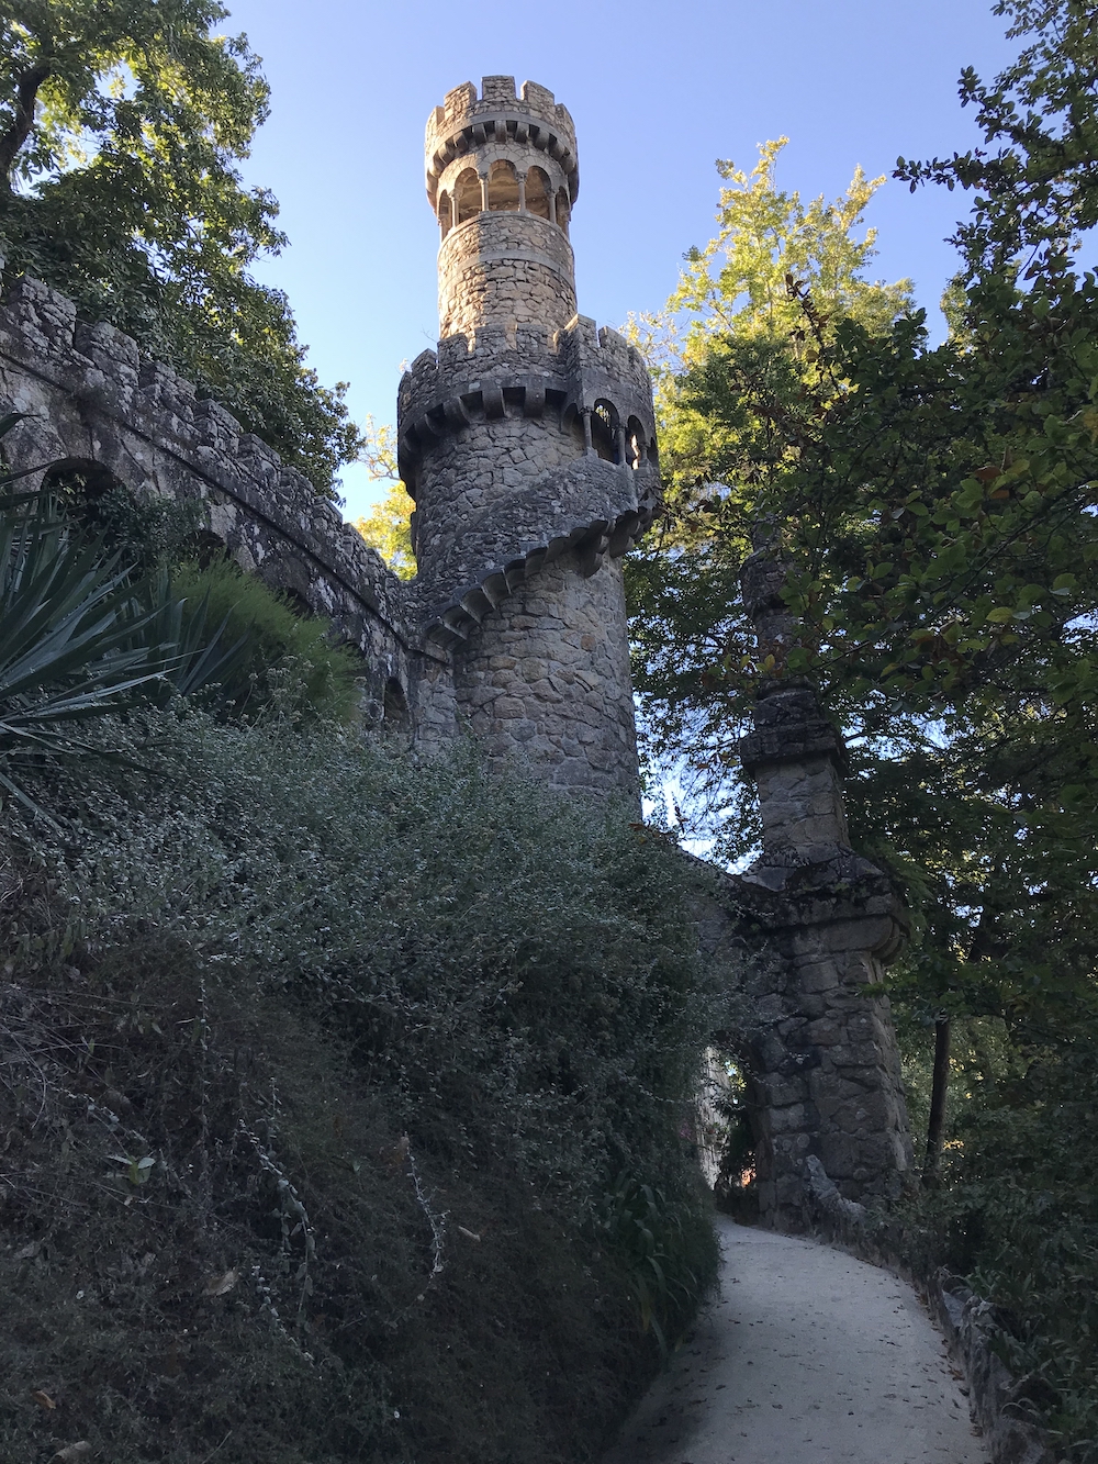
POLYGON ((426 168, 441 340, 398 400, 425 643, 490 755, 635 795, 621 556, 659 492, 651 385, 575 313, 572 120, 533 82, 466 82, 427 122, 426 168))

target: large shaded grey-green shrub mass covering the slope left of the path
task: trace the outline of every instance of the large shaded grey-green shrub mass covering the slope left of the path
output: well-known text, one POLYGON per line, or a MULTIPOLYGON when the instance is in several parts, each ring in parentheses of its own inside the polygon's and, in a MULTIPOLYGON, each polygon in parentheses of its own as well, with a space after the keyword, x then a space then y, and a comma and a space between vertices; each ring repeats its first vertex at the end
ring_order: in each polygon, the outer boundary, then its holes
POLYGON ((66 836, 6 829, 7 1452, 596 1458, 659 1362, 618 1176, 669 1342, 713 1277, 681 1130, 729 1012, 685 862, 466 752, 116 735, 148 773, 51 774, 66 836))

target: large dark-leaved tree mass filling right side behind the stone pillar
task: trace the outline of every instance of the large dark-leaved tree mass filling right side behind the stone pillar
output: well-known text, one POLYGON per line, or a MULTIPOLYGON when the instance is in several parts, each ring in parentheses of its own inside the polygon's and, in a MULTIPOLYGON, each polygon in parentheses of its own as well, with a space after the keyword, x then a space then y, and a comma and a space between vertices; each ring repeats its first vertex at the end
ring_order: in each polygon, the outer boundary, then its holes
MULTIPOLYGON (((766 527, 801 643, 764 671, 815 678, 854 742, 855 836, 922 912, 902 988, 946 1034, 994 1013, 1022 1051, 1063 1038, 1098 962, 1098 283, 1075 265, 1098 44, 1076 0, 998 13, 1034 44, 993 86, 962 78, 996 151, 897 167, 976 190, 950 338, 930 348, 921 312, 836 312, 792 272, 796 324, 766 370, 744 369, 735 316, 713 331, 673 382, 709 445, 685 594, 646 602, 641 578, 637 605, 650 725, 735 808, 760 669, 736 577, 766 527)), ((741 817, 726 843, 750 836, 741 817)))

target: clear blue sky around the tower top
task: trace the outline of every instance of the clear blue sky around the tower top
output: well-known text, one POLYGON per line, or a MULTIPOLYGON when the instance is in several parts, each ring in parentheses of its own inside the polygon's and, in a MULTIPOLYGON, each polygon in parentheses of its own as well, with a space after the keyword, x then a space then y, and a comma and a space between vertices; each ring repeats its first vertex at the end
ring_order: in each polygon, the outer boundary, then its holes
MULTIPOLYGON (((984 0, 558 0, 455 6, 227 0, 272 86, 246 180, 281 203, 290 247, 258 271, 285 290, 322 381, 348 381, 357 419, 392 420, 400 365, 438 334, 438 230, 423 190, 423 127, 444 92, 485 75, 549 86, 572 113, 580 309, 602 325, 659 307, 682 253, 713 233, 714 158, 751 168, 788 135, 779 182, 839 195, 861 164, 975 141, 956 82, 1010 54, 984 0)), ((874 275, 915 281, 937 307, 943 242, 966 202, 890 182, 868 223, 874 275)), ((381 492, 344 473, 346 512, 381 492)))

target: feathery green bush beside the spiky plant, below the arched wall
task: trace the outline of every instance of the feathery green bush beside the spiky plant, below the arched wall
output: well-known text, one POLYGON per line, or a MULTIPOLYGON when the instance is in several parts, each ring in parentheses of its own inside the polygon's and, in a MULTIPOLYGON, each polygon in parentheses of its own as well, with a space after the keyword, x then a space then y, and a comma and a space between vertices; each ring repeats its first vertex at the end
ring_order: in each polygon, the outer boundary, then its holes
POLYGON ((347 723, 359 706, 362 660, 351 646, 331 640, 331 624, 297 613, 285 596, 244 574, 231 559, 196 561, 171 569, 171 594, 183 597, 205 624, 221 628, 225 644, 246 641, 223 685, 233 714, 255 716, 277 701, 347 723))

